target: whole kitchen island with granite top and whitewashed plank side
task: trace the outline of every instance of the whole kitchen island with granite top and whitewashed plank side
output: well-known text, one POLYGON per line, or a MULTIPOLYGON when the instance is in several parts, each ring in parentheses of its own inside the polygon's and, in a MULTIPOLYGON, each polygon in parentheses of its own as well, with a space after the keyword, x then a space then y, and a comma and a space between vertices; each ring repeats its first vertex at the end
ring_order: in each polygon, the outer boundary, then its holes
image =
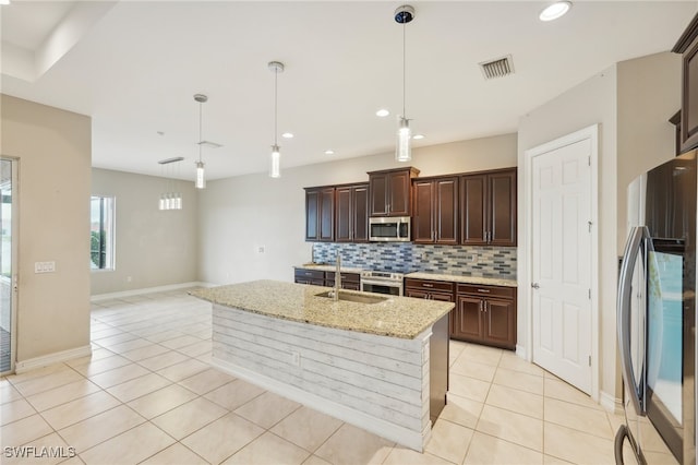
POLYGON ((191 294, 213 303, 215 366, 423 451, 446 401, 454 303, 329 290, 256 281, 191 294))

